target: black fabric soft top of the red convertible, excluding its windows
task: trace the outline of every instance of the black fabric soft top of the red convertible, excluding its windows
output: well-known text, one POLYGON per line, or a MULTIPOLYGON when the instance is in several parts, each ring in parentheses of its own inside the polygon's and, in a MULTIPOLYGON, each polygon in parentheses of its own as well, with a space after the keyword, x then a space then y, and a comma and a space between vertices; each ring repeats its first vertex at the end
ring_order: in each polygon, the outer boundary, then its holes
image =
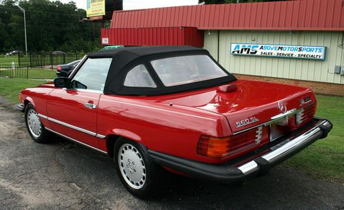
MULTIPOLYGON (((113 58, 107 80, 105 82, 104 94, 132 95, 132 96, 154 96, 162 94, 173 94, 197 90, 207 87, 214 87, 236 80, 235 76, 229 74, 219 65, 228 76, 215 78, 208 81, 201 81, 191 84, 165 87, 160 78, 153 70, 150 61, 173 56, 185 56, 192 54, 206 54, 211 57, 207 50, 191 46, 147 46, 147 47, 127 47, 112 50, 103 50, 92 52, 87 55, 88 58, 113 58), (155 84, 158 87, 126 87, 124 86, 125 77, 129 70, 136 65, 143 64, 149 70, 155 84)), ((213 59, 211 57, 211 59, 213 59)), ((215 61, 213 59, 213 61, 215 61)), ((217 63, 215 61, 215 63, 217 63)))

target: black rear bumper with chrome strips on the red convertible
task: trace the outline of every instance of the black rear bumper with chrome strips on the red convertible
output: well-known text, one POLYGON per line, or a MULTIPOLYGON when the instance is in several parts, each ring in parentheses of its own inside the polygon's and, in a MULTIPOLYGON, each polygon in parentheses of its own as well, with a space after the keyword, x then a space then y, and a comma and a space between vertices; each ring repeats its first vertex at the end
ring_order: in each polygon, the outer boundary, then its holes
POLYGON ((272 167, 283 162, 283 160, 297 154, 316 140, 325 138, 331 129, 332 123, 329 120, 315 118, 308 127, 279 140, 277 145, 264 149, 264 153, 261 152, 261 156, 255 154, 257 158, 253 160, 252 156, 246 157, 248 161, 240 160, 240 162, 245 162, 242 165, 237 163, 212 165, 151 150, 149 150, 149 155, 154 162, 195 178, 224 183, 242 182, 250 177, 267 174, 272 167))

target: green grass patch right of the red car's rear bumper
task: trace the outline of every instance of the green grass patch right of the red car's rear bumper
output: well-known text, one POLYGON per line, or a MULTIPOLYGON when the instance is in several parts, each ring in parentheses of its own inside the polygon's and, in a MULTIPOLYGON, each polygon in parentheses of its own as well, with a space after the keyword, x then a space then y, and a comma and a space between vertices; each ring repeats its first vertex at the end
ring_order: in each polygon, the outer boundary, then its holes
POLYGON ((324 180, 344 183, 344 97, 318 95, 316 116, 331 120, 334 127, 327 138, 286 161, 285 165, 324 180))

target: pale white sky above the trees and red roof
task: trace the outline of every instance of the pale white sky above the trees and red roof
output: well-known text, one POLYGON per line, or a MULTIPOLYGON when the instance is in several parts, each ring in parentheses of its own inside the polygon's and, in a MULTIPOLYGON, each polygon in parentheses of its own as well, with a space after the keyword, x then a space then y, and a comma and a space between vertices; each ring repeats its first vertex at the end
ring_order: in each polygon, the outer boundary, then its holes
MULTIPOLYGON (((71 0, 60 0, 68 3, 71 0)), ((78 8, 86 10, 86 0, 73 0, 78 8)), ((196 5, 198 0, 123 0, 123 10, 136 10, 144 8, 163 8, 171 6, 196 5)))

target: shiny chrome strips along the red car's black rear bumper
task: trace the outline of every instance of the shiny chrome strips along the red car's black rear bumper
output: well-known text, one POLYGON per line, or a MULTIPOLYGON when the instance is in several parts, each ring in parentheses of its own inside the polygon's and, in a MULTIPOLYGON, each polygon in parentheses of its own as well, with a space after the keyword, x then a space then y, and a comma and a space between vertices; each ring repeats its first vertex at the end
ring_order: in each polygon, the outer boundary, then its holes
MULTIPOLYGON (((320 123, 317 123, 312 129, 310 129, 308 132, 305 132, 304 134, 301 134, 301 136, 297 136, 296 138, 288 138, 287 140, 280 143, 280 146, 277 147, 277 149, 270 151, 268 154, 264 154, 261 156, 261 158, 264 158, 268 162, 272 163, 275 160, 278 160, 281 156, 286 154, 288 151, 292 151, 295 147, 302 145, 303 143, 310 140, 312 136, 314 136, 317 132, 321 131, 320 125, 327 126, 330 122, 327 120, 323 120, 320 123), (288 141, 288 143, 285 143, 288 141)), ((277 145, 278 146, 278 145, 277 145)), ((276 147, 276 146, 275 146, 276 147)), ((238 167, 238 169, 245 175, 251 174, 253 171, 259 170, 259 165, 255 160, 251 160, 250 162, 245 163, 244 165, 241 165, 238 167)))

